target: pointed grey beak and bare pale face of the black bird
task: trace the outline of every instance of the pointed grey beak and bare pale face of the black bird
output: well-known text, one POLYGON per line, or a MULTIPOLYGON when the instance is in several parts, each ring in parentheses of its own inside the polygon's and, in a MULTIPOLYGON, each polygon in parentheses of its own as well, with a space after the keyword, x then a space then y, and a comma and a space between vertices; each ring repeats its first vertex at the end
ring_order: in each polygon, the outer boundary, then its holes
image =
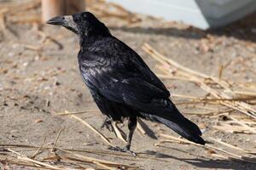
POLYGON ((72 15, 65 15, 65 16, 56 16, 46 22, 46 24, 56 25, 56 26, 64 26, 68 30, 73 31, 74 33, 78 34, 78 26, 73 21, 72 15))

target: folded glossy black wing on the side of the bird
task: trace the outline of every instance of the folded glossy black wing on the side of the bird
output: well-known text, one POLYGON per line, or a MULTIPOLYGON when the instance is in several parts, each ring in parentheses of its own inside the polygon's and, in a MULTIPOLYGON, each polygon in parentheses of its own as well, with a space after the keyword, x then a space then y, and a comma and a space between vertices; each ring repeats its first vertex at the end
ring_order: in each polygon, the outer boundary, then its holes
POLYGON ((79 55, 79 68, 89 88, 139 111, 170 112, 169 91, 138 55, 118 59, 96 53, 79 55))

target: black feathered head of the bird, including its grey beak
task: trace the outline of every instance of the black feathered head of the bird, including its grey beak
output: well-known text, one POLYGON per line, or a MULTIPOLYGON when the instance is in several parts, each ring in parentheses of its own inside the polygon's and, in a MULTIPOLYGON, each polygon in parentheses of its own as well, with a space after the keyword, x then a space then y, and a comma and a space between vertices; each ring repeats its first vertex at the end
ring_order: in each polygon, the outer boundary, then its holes
POLYGON ((102 37, 110 35, 108 27, 90 12, 57 16, 48 20, 46 23, 64 26, 79 35, 79 37, 102 37))

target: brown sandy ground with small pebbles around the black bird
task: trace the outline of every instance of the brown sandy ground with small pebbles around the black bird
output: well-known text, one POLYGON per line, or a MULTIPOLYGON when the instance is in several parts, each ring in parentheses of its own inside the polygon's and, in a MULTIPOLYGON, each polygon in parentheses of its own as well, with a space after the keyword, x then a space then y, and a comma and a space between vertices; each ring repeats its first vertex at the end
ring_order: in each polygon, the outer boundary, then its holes
MULTIPOLYGON (((216 31, 199 31, 182 24, 163 20, 142 18, 138 26, 119 26, 113 18, 102 20, 111 27, 111 32, 131 48, 135 49, 150 68, 156 62, 142 50, 144 42, 150 43, 162 54, 197 71, 218 77, 219 65, 243 59, 243 65, 228 66, 223 77, 236 82, 255 82, 256 74, 256 15, 247 20, 216 31), (248 24, 250 23, 250 24, 248 24)), ((78 38, 73 33, 56 26, 42 26, 42 30, 61 43, 44 43, 42 37, 30 24, 11 25, 16 36, 7 31, 1 32, 0 39, 0 144, 52 144, 60 129, 63 129, 57 145, 73 149, 108 150, 108 146, 96 133, 69 116, 55 116, 55 112, 90 111, 78 115, 91 125, 100 128, 102 114, 97 111, 88 89, 84 86, 78 70, 78 38), (45 141, 44 141, 45 139, 45 141)), ((206 93, 195 84, 180 81, 166 81, 173 94, 204 96, 206 93)), ((176 103, 182 99, 174 99, 176 103)), ((196 111, 177 105, 184 113, 196 111)), ((185 114, 186 115, 186 114, 185 114)), ((224 133, 212 128, 218 117, 191 116, 189 119, 207 127, 204 138, 224 139, 248 150, 255 148, 255 134, 224 133)), ((160 132, 172 133, 162 125, 146 122, 160 139, 160 132)), ((122 127, 125 132, 126 125, 122 127)), ((102 129, 113 144, 124 145, 113 133, 102 129)), ((256 169, 256 164, 241 161, 217 159, 209 156, 207 150, 190 144, 162 144, 158 140, 142 136, 136 132, 131 150, 141 156, 157 159, 102 156, 110 161, 120 161, 141 169, 256 169)), ((236 152, 236 151, 235 151, 236 152)), ((28 155, 30 151, 24 151, 28 155)), ((239 152, 236 152, 239 154, 239 152)), ((95 156, 95 155, 91 155, 95 156)), ((97 157, 97 156, 95 156, 97 157)), ((252 159, 256 162, 256 159, 252 159)), ((15 169, 15 167, 13 167, 15 169)), ((20 167, 22 168, 22 167, 20 167)), ((32 168, 27 168, 32 169, 32 168)))

